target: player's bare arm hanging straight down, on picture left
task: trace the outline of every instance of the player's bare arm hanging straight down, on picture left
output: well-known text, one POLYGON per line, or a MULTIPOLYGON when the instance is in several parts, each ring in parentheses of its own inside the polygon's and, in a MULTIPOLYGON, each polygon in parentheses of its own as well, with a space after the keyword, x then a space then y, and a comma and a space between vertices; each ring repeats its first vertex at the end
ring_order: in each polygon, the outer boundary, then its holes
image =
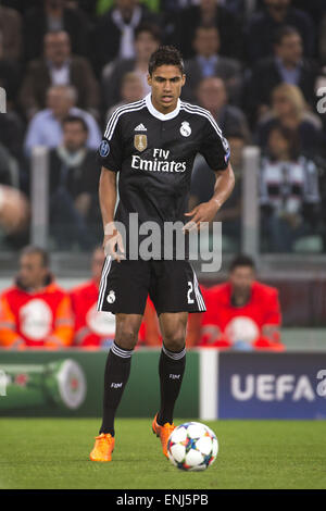
POLYGON ((104 230, 103 249, 106 254, 120 262, 124 256, 117 253, 116 246, 121 252, 125 250, 122 236, 113 222, 116 202, 116 173, 103 166, 100 176, 99 198, 104 230))

